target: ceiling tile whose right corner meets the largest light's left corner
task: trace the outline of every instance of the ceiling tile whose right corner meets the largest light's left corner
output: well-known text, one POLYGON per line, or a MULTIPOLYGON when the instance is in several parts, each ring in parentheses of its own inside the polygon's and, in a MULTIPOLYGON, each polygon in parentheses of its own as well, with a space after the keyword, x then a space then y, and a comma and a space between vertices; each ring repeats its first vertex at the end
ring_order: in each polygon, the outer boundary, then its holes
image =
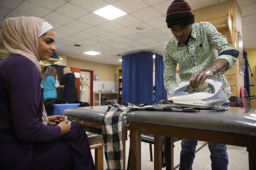
POLYGON ((71 3, 66 3, 65 5, 57 8, 56 12, 59 12, 60 14, 67 15, 75 19, 81 18, 82 16, 89 13, 89 11, 86 11, 83 8, 80 8, 71 3))

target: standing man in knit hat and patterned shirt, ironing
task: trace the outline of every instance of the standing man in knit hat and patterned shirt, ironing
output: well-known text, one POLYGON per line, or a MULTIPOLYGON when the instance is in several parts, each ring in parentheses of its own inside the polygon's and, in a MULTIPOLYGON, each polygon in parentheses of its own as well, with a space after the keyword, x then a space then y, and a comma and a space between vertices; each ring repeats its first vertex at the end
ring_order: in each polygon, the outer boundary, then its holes
MULTIPOLYGON (((209 22, 195 23, 191 7, 183 0, 175 0, 168 7, 166 23, 172 37, 164 46, 164 86, 168 94, 177 87, 175 67, 179 63, 181 81, 189 80, 195 91, 205 79, 223 82, 222 90, 230 97, 231 90, 224 73, 237 61, 238 51, 209 22)), ((180 169, 192 169, 197 141, 183 139, 180 152, 180 169)), ((226 145, 209 142, 212 169, 228 169, 226 145)))

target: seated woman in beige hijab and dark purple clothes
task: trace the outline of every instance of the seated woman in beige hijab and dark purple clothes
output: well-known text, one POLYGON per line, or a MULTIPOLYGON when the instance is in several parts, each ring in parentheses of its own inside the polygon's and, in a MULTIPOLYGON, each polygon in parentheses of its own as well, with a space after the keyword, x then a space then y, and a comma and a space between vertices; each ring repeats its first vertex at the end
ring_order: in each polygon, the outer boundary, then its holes
POLYGON ((22 16, 6 19, 1 33, 10 53, 0 62, 1 169, 95 169, 82 126, 47 117, 43 106, 39 61, 55 50, 52 26, 22 16))

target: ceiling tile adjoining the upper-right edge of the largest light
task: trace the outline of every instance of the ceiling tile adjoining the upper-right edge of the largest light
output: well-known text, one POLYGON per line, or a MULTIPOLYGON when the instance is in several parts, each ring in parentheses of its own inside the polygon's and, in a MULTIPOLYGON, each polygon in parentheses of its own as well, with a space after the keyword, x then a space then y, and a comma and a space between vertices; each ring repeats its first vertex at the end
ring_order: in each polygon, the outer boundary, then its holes
POLYGON ((138 11, 148 7, 148 5, 141 0, 119 0, 117 2, 114 2, 113 6, 127 13, 138 11))

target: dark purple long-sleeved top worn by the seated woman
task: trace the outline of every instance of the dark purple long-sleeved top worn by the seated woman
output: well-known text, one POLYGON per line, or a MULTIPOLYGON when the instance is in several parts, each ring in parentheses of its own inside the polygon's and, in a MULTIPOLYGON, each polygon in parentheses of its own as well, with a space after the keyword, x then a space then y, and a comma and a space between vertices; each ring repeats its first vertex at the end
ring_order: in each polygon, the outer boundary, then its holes
POLYGON ((61 137, 59 126, 42 123, 40 79, 38 67, 24 56, 10 55, 0 62, 0 150, 3 153, 21 152, 28 156, 32 154, 32 142, 61 137))

